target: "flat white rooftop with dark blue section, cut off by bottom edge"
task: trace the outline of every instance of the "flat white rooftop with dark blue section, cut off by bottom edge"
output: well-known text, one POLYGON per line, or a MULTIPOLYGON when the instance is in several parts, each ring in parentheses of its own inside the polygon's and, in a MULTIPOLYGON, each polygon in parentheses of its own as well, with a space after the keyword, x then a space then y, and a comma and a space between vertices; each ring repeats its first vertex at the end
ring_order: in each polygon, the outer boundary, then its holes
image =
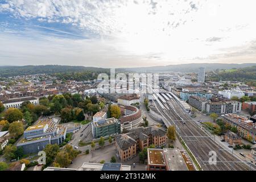
POLYGON ((47 167, 44 171, 131 171, 131 166, 126 166, 121 163, 84 163, 77 169, 47 167))

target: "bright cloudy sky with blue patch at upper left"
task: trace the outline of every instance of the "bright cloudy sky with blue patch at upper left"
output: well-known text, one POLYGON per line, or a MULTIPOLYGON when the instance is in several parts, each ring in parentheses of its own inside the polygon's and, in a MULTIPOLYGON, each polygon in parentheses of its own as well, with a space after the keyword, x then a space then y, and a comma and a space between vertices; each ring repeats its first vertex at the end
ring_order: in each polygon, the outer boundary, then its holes
POLYGON ((0 0, 0 65, 256 63, 255 0, 0 0))

